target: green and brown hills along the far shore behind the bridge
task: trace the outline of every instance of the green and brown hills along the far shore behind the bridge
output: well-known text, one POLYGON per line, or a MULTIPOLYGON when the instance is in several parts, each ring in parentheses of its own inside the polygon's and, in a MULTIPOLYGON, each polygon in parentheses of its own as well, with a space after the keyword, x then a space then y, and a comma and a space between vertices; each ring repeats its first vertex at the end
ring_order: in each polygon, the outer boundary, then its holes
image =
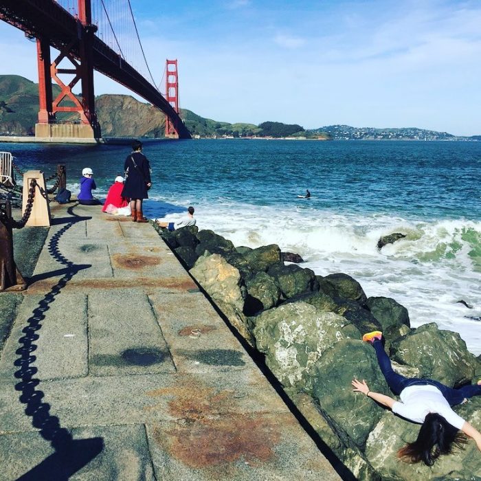
MULTIPOLYGON (((60 91, 54 85, 54 95, 60 91)), ((96 98, 98 121, 104 137, 163 137, 165 116, 150 104, 131 96, 105 94, 96 98)), ((74 114, 75 115, 75 114, 74 114)), ((38 116, 38 85, 16 75, 0 76, 0 135, 34 135, 38 116)), ((69 119, 72 114, 58 115, 69 119)), ((301 139, 407 139, 481 140, 480 135, 456 137, 422 128, 370 128, 329 125, 304 130, 298 124, 262 122, 230 124, 203 118, 181 109, 181 118, 192 136, 198 137, 294 137, 301 139)))

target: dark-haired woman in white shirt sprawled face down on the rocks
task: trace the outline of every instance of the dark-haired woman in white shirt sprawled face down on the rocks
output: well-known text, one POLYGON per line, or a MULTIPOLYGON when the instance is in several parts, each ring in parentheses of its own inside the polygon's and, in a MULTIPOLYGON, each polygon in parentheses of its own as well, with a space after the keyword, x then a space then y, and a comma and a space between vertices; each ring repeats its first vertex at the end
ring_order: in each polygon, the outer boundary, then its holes
POLYGON ((440 454, 449 454, 454 446, 461 447, 467 443, 459 429, 473 438, 481 451, 481 433, 451 409, 451 406, 480 395, 481 381, 453 389, 431 379, 409 379, 392 370, 391 361, 384 351, 381 331, 365 334, 362 339, 374 347, 384 378, 401 401, 370 391, 364 380, 353 380, 354 391, 366 394, 403 418, 422 423, 418 438, 398 451, 399 458, 408 462, 423 461, 425 465, 432 466, 440 454))

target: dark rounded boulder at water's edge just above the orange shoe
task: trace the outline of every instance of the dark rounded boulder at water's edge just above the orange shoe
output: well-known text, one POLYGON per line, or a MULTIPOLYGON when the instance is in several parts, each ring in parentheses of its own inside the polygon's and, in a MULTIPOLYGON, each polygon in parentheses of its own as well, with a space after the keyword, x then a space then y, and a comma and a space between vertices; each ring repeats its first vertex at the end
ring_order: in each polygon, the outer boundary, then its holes
POLYGON ((394 339, 410 332, 409 314, 404 306, 391 298, 368 298, 366 302, 372 315, 381 323, 381 331, 387 339, 394 339))

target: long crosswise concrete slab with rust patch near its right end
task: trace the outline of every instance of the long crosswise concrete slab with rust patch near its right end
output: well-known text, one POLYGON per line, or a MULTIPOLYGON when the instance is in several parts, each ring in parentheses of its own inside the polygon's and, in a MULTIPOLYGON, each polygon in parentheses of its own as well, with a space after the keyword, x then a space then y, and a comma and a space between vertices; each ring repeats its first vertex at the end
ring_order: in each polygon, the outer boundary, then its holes
MULTIPOLYGON (((0 434, 32 431, 17 381, 0 381, 0 434), (16 387, 16 388, 15 388, 16 387)), ((36 386, 52 416, 67 427, 157 423, 191 416, 287 412, 260 372, 140 374, 58 379, 36 386)))

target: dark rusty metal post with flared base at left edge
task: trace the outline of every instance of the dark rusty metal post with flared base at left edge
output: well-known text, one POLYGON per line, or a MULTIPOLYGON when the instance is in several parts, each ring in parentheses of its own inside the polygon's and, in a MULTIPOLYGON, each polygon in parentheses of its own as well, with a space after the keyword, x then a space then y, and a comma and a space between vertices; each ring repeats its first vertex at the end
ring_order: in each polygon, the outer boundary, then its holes
POLYGON ((27 283, 13 258, 12 207, 9 201, 0 204, 0 292, 23 291, 27 283))

